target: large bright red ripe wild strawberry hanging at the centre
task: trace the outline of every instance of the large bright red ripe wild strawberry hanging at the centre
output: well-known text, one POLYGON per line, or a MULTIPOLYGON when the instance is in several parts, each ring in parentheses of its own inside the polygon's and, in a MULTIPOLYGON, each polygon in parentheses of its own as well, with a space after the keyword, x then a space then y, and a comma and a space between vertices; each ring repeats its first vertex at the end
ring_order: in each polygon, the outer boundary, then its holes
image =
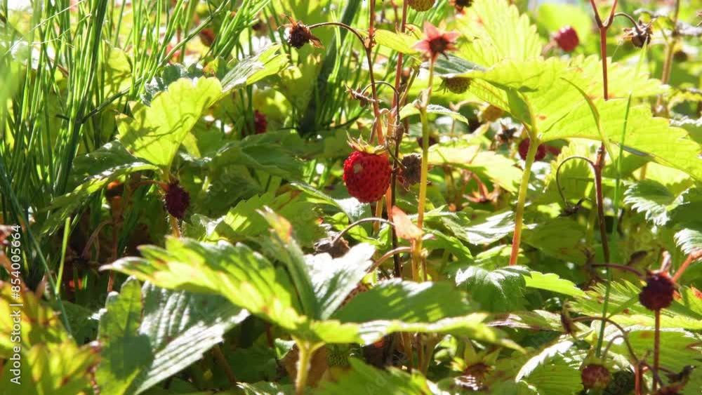
POLYGON ((362 203, 380 200, 390 186, 391 174, 387 154, 354 151, 344 162, 346 189, 362 203))

